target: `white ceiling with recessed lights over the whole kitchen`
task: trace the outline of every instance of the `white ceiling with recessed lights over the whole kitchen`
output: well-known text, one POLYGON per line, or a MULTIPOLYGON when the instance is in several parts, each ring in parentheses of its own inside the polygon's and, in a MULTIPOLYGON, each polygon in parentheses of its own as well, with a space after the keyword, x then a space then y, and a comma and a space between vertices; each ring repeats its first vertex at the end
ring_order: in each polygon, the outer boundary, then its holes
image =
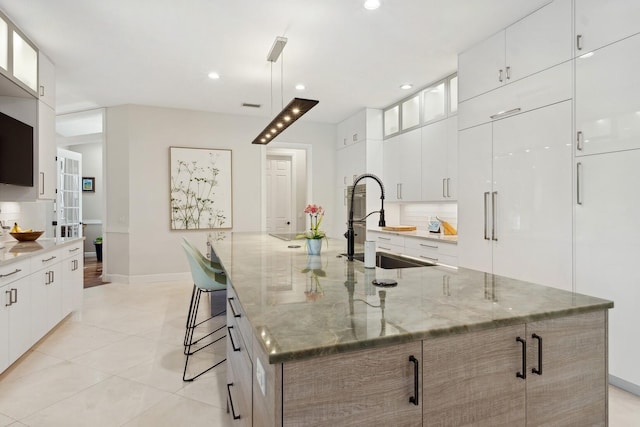
POLYGON ((549 2, 381 0, 369 11, 363 1, 0 0, 0 9, 56 65, 58 114, 143 104, 266 118, 298 96, 320 101, 302 120, 337 123, 455 72, 458 52, 549 2), (288 43, 272 64, 276 36, 288 43))

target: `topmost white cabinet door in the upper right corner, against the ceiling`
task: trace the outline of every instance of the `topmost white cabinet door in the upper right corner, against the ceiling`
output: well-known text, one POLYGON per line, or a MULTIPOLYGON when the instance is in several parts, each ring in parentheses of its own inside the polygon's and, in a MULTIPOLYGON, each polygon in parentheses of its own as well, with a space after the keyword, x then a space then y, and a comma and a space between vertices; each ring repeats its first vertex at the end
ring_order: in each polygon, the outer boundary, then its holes
POLYGON ((576 0, 576 56, 640 32, 636 0, 576 0))

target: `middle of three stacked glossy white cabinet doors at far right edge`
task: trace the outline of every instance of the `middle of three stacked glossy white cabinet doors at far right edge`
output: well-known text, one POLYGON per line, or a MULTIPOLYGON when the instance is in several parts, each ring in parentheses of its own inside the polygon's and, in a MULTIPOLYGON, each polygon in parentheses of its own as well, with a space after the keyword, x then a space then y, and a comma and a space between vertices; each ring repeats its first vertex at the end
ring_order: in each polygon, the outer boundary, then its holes
POLYGON ((576 59, 576 155, 640 148, 639 50, 640 34, 576 59))

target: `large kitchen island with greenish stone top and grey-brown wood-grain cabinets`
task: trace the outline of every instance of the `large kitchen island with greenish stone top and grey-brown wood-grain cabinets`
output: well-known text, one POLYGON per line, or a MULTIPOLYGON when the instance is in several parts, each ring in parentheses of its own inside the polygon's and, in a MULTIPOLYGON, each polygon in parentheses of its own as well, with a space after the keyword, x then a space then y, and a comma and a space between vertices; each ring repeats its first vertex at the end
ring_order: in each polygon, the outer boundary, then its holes
POLYGON ((342 240, 320 256, 266 234, 209 240, 241 425, 606 425, 610 301, 462 268, 365 269, 342 240))

